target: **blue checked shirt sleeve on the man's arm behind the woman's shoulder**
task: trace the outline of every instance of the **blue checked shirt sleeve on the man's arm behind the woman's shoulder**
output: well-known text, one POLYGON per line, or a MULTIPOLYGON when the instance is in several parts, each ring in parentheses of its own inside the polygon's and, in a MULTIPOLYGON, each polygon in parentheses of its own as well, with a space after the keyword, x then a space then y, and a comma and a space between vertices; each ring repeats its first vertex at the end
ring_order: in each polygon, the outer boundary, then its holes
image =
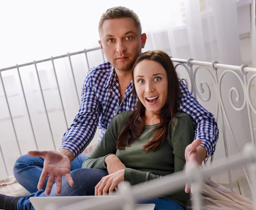
POLYGON ((181 100, 178 111, 184 112, 192 118, 196 127, 194 140, 197 138, 202 140, 201 145, 206 149, 207 158, 209 158, 214 153, 218 141, 219 130, 215 117, 195 100, 181 80, 180 90, 181 100))

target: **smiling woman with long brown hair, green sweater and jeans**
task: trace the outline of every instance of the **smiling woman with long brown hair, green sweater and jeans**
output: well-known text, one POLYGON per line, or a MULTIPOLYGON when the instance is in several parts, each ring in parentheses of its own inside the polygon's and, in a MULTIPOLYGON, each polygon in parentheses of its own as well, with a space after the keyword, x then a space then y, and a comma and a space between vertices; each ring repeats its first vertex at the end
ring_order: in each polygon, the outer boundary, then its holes
MULTIPOLYGON (((180 88, 172 60, 159 50, 145 52, 135 61, 132 75, 139 98, 137 109, 113 119, 83 168, 70 173, 81 181, 69 187, 63 178, 59 196, 105 195, 122 181, 138 184, 183 170, 185 148, 192 143, 195 132, 189 116, 177 112, 180 88), (124 169, 108 175, 111 156, 118 158, 124 169)), ((0 203, 7 201, 6 210, 33 209, 29 202, 32 196, 45 196, 44 190, 21 198, 1 195, 0 203)), ((50 196, 57 196, 55 184, 50 196)), ((155 210, 182 210, 188 200, 189 194, 180 190, 143 203, 156 204, 155 210)))

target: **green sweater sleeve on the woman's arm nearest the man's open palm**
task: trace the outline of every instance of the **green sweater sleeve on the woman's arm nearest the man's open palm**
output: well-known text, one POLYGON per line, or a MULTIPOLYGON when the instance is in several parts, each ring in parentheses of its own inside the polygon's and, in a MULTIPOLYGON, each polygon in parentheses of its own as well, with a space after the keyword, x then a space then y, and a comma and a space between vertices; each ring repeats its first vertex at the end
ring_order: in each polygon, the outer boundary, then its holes
POLYGON ((102 140, 99 141, 99 144, 84 161, 82 168, 107 169, 105 158, 108 155, 116 154, 116 139, 119 133, 120 121, 123 121, 123 119, 119 115, 113 118, 102 140))

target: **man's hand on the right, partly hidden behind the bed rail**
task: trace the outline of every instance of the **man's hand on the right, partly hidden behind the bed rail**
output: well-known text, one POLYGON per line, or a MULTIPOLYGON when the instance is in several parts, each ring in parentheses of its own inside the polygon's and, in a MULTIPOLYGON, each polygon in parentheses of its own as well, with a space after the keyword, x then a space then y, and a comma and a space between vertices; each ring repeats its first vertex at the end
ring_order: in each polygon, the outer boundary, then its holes
MULTIPOLYGON (((185 150, 185 159, 186 159, 186 167, 188 165, 196 164, 198 167, 203 162, 204 158, 206 158, 207 152, 201 144, 201 139, 197 138, 191 144, 186 147, 185 150)), ((186 184, 185 192, 189 193, 189 184, 186 184)))

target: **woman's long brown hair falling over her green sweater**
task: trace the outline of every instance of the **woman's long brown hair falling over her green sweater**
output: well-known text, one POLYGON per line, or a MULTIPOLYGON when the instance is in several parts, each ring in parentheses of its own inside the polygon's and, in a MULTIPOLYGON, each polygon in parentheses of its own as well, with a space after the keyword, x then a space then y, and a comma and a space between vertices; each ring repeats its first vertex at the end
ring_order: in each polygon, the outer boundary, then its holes
MULTIPOLYGON (((160 63, 166 70, 168 79, 168 98, 166 104, 160 110, 160 113, 158 113, 160 117, 160 124, 152 130, 155 130, 153 138, 143 147, 143 149, 148 152, 150 150, 155 151, 159 149, 165 142, 169 122, 172 121, 173 123, 173 117, 176 117, 175 112, 177 111, 177 108, 179 106, 181 94, 180 82, 178 80, 177 72, 175 71, 172 60, 169 55, 160 50, 144 52, 137 58, 132 68, 133 81, 134 69, 137 64, 143 60, 153 60, 157 63, 160 63)), ((136 94, 135 87, 134 92, 136 94)), ((136 109, 128 118, 128 121, 118 135, 116 149, 123 150, 125 149, 125 146, 129 147, 133 141, 138 140, 145 127, 144 121, 145 106, 143 106, 141 101, 138 100, 136 104, 136 109)))

